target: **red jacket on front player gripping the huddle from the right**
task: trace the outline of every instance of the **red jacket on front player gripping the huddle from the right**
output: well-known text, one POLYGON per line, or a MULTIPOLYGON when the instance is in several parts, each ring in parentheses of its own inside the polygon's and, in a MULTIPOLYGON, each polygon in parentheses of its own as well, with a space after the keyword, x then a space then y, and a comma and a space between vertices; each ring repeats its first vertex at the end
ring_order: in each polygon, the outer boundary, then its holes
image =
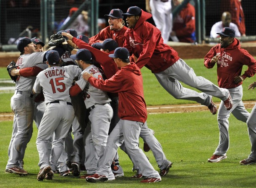
POLYGON ((135 63, 120 69, 107 80, 90 77, 90 84, 108 92, 118 92, 118 117, 122 120, 145 123, 147 118, 142 75, 135 63))

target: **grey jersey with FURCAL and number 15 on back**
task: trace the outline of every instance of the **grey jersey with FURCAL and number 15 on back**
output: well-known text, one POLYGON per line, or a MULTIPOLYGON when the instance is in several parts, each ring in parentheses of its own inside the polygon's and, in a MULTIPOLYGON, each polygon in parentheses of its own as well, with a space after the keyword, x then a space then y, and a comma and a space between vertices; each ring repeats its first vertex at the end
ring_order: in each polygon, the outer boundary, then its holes
POLYGON ((81 72, 81 68, 76 65, 47 68, 37 75, 33 89, 35 93, 40 93, 43 89, 45 104, 56 100, 71 102, 69 89, 73 78, 81 72))

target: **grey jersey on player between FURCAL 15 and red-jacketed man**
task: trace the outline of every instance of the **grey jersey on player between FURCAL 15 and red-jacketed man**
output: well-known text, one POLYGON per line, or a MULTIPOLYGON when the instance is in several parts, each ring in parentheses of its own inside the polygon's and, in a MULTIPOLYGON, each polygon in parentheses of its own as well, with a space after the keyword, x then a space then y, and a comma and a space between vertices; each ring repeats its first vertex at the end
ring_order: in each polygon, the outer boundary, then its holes
POLYGON ((106 91, 102 91, 100 89, 91 86, 91 84, 84 80, 83 73, 93 73, 93 77, 97 79, 103 79, 102 73, 100 72, 99 68, 94 65, 90 65, 80 74, 79 80, 76 81, 76 84, 84 91, 84 103, 86 108, 92 107, 94 104, 106 104, 111 101, 108 97, 106 91))

